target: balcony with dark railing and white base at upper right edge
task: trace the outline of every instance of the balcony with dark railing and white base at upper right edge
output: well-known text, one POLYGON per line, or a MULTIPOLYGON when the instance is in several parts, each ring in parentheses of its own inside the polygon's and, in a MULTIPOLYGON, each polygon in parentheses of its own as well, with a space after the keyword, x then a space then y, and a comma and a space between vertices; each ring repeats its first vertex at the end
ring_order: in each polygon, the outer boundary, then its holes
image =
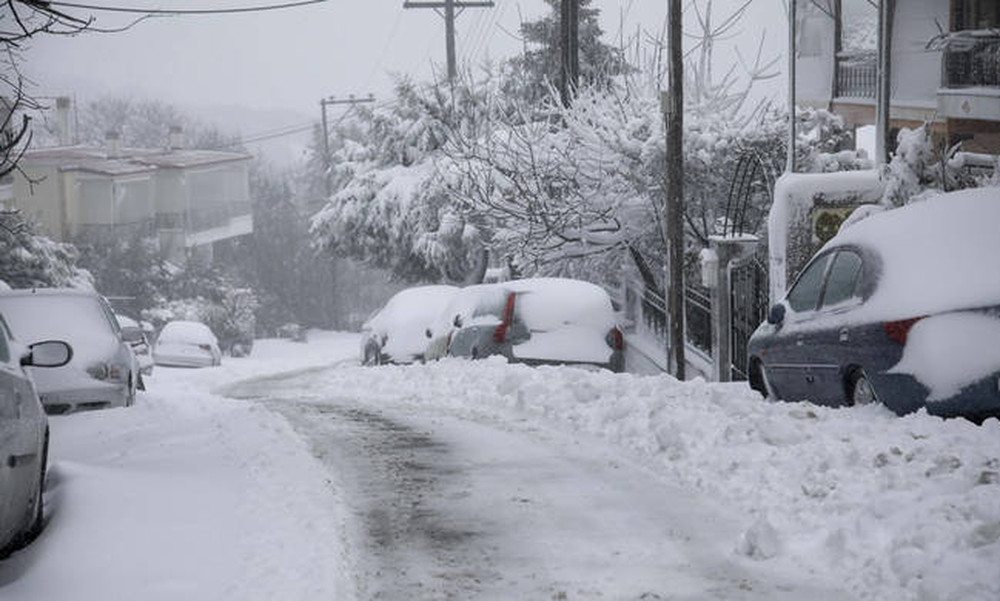
POLYGON ((952 34, 942 57, 938 112, 951 119, 1000 121, 1000 35, 952 34))

